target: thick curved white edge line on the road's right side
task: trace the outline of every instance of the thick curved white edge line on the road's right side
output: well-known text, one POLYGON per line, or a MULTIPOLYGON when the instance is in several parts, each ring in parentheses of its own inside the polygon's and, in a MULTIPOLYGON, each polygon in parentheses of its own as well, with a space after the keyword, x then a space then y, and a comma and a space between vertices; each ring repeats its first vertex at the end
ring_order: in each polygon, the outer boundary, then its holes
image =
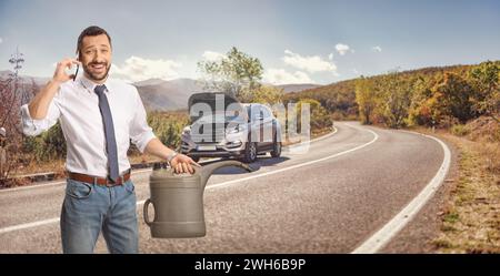
POLYGON ((446 175, 450 168, 451 154, 450 149, 441 140, 410 131, 404 131, 412 134, 423 135, 426 137, 437 141, 444 151, 444 157, 441 166, 436 173, 434 177, 427 184, 427 186, 391 221, 389 221, 382 228, 374 233, 371 237, 358 246, 352 254, 373 254, 383 248, 426 205, 426 203, 438 191, 443 183, 446 175))

